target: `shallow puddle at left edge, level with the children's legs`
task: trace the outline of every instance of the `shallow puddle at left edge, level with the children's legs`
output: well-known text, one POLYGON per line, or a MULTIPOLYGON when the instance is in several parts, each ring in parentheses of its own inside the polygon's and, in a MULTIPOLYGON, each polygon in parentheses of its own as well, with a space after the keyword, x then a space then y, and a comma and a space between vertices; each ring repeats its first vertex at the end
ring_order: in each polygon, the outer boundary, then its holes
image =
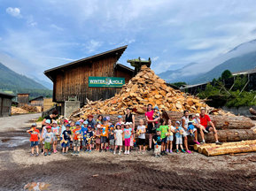
POLYGON ((22 136, 15 137, 0 137, 0 148, 12 148, 29 142, 29 138, 22 136))

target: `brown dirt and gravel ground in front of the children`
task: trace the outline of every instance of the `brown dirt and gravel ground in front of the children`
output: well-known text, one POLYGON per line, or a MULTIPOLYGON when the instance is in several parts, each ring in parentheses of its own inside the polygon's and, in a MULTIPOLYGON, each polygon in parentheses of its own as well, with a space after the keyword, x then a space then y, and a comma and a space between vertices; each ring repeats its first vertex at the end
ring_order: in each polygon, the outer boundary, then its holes
POLYGON ((110 152, 30 157, 28 134, 0 133, 0 190, 23 190, 30 182, 47 190, 255 190, 256 153, 205 157, 151 152, 114 156, 110 152), (18 140, 21 141, 17 141, 18 140), (11 145, 11 146, 10 146, 11 145))

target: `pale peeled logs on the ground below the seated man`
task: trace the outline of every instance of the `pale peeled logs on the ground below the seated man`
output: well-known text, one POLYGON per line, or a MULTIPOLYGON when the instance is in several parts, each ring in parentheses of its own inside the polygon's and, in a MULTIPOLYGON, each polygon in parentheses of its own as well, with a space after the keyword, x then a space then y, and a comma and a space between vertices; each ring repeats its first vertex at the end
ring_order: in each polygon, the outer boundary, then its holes
POLYGON ((222 145, 204 144, 195 145, 195 150, 206 156, 219 156, 234 153, 244 153, 244 152, 255 152, 256 151, 256 140, 251 141, 236 141, 236 142, 226 142, 222 145))

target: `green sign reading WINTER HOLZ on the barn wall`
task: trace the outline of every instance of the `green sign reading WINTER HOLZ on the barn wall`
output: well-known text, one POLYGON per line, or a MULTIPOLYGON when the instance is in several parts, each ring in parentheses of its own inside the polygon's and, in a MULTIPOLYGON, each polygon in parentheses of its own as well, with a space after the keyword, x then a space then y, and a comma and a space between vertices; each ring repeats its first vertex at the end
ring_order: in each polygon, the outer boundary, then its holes
POLYGON ((89 77, 89 87, 122 88, 125 84, 124 78, 116 77, 89 77))

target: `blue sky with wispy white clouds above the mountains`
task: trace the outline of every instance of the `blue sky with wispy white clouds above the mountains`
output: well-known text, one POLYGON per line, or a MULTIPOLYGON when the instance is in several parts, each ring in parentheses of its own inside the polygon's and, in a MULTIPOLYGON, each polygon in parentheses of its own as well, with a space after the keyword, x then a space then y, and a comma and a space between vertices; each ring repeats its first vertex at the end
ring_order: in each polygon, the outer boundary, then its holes
POLYGON ((0 0, 0 62, 49 80, 47 69, 128 44, 121 64, 151 57, 162 73, 256 39, 255 20, 255 0, 0 0))

